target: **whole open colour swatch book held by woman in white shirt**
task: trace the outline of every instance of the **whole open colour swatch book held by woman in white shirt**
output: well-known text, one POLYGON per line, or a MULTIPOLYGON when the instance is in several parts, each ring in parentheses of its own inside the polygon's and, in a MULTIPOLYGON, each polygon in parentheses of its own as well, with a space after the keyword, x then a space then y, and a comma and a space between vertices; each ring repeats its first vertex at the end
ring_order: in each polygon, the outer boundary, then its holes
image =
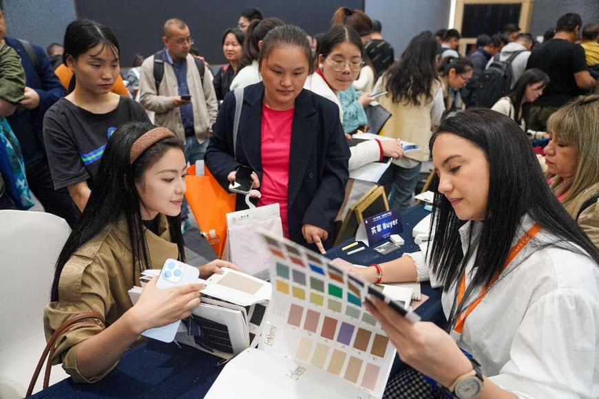
POLYGON ((206 398, 381 398, 395 347, 362 301, 376 295, 419 316, 315 252, 262 235, 273 296, 259 347, 233 358, 206 398))

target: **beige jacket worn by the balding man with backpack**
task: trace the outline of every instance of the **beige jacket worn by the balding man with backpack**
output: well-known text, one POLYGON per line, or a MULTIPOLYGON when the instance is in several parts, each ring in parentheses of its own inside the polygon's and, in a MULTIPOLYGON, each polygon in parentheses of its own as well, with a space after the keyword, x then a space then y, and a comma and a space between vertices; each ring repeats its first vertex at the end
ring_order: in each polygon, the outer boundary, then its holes
MULTIPOLYGON (((187 86, 191 94, 193 105, 193 129, 196 139, 202 143, 206 140, 206 133, 211 131, 212 124, 216 122, 218 102, 212 80, 209 78, 209 69, 205 69, 204 85, 200 72, 191 54, 187 54, 187 86)), ((165 63, 165 75, 160 81, 158 91, 154 80, 154 56, 149 56, 141 65, 139 77, 139 102, 149 111, 156 113, 156 126, 163 126, 175 133, 178 138, 185 140, 185 128, 181 120, 179 107, 173 105, 173 97, 179 95, 177 77, 173 66, 165 63)))

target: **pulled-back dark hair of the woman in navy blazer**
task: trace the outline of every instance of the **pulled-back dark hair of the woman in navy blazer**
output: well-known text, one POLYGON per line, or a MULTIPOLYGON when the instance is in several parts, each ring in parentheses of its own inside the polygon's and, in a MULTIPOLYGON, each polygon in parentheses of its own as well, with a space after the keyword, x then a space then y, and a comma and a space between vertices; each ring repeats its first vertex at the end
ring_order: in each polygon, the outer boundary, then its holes
POLYGON ((281 47, 297 47, 302 50, 308 63, 308 74, 313 72, 312 49, 308 42, 308 34, 295 25, 277 26, 264 36, 258 57, 259 67, 262 68, 262 61, 269 58, 273 50, 281 47))

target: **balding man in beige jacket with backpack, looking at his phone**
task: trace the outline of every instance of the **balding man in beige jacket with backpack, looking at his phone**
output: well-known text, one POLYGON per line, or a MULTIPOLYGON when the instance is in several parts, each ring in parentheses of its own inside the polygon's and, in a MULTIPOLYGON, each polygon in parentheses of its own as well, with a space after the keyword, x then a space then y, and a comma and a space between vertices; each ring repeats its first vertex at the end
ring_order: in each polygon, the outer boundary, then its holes
MULTIPOLYGON (((195 164, 204 159, 218 114, 212 77, 204 63, 189 53, 193 39, 184 21, 166 21, 162 43, 165 47, 141 65, 139 100, 154 111, 157 126, 170 129, 185 142, 185 160, 195 164)), ((187 205, 181 217, 187 219, 187 205)))

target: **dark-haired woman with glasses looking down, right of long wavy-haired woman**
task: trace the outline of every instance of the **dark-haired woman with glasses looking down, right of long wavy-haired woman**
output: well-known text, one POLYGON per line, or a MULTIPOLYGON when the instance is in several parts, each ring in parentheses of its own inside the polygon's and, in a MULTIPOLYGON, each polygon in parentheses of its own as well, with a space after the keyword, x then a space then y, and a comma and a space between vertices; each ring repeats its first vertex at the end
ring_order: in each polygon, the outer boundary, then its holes
POLYGON ((439 80, 443 87, 445 110, 466 109, 460 89, 470 82, 474 74, 474 64, 465 57, 448 56, 439 65, 439 80))

